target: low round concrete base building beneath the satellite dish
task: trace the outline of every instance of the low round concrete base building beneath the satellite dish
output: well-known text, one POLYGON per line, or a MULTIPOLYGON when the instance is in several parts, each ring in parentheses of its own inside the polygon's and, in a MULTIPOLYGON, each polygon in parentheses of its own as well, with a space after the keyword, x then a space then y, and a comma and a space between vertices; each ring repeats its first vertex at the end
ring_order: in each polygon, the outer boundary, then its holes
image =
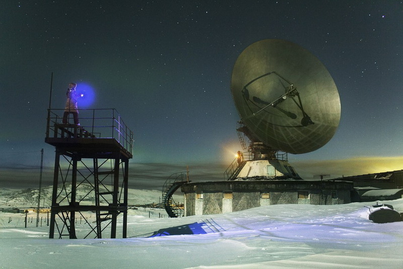
POLYGON ((219 214, 271 204, 344 204, 351 182, 261 180, 186 183, 185 216, 219 214))

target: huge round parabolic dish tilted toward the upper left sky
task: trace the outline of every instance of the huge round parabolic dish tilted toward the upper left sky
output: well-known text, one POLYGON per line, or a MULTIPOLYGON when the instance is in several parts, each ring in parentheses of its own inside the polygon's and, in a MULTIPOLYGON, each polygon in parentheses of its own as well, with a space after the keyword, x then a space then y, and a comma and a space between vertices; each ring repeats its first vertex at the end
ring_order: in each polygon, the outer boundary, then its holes
POLYGON ((264 39, 243 50, 231 91, 251 136, 273 150, 314 151, 339 126, 340 97, 329 72, 308 50, 286 40, 264 39))

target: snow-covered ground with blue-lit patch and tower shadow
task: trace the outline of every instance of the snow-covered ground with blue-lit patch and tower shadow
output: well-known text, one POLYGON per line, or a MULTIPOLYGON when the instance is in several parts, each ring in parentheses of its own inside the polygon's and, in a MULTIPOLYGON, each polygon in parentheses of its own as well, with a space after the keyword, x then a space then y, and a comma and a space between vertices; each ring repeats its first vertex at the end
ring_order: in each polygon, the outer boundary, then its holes
MULTIPOLYGON (((387 203, 403 211, 403 199, 387 203)), ((280 204, 178 219, 130 209, 126 239, 48 239, 36 213, 23 228, 25 214, 2 212, 0 268, 403 268, 403 222, 372 223, 364 207, 371 204, 280 204)))

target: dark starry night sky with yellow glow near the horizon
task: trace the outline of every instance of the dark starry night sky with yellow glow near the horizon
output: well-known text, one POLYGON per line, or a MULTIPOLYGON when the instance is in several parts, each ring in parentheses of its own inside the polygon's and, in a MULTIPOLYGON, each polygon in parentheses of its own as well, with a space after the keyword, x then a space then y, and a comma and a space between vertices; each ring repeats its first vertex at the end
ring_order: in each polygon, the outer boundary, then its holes
POLYGON ((49 182, 49 96, 62 109, 69 82, 94 91, 79 108, 114 108, 135 133, 129 187, 186 166, 222 179, 241 150, 232 68, 267 38, 308 49, 339 90, 334 137, 289 154, 303 178, 403 169, 401 1, 0 1, 0 18, 0 187, 37 185, 41 148, 49 182))

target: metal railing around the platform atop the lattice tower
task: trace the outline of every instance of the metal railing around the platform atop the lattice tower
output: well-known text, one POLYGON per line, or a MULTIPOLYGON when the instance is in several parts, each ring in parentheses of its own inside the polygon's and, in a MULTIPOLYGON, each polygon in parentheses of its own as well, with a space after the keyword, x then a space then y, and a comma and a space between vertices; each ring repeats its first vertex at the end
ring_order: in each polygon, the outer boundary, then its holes
MULTIPOLYGON (((84 138, 113 138, 132 154, 133 132, 125 125, 115 109, 79 110, 80 126, 73 123, 63 124, 63 113, 63 109, 48 109, 46 138, 63 138, 63 135, 66 135, 66 132, 62 131, 63 129, 79 128, 81 131, 90 133, 84 138), (60 128, 63 126, 64 128, 60 128)), ((69 114, 69 122, 73 122, 72 116, 69 114)))

